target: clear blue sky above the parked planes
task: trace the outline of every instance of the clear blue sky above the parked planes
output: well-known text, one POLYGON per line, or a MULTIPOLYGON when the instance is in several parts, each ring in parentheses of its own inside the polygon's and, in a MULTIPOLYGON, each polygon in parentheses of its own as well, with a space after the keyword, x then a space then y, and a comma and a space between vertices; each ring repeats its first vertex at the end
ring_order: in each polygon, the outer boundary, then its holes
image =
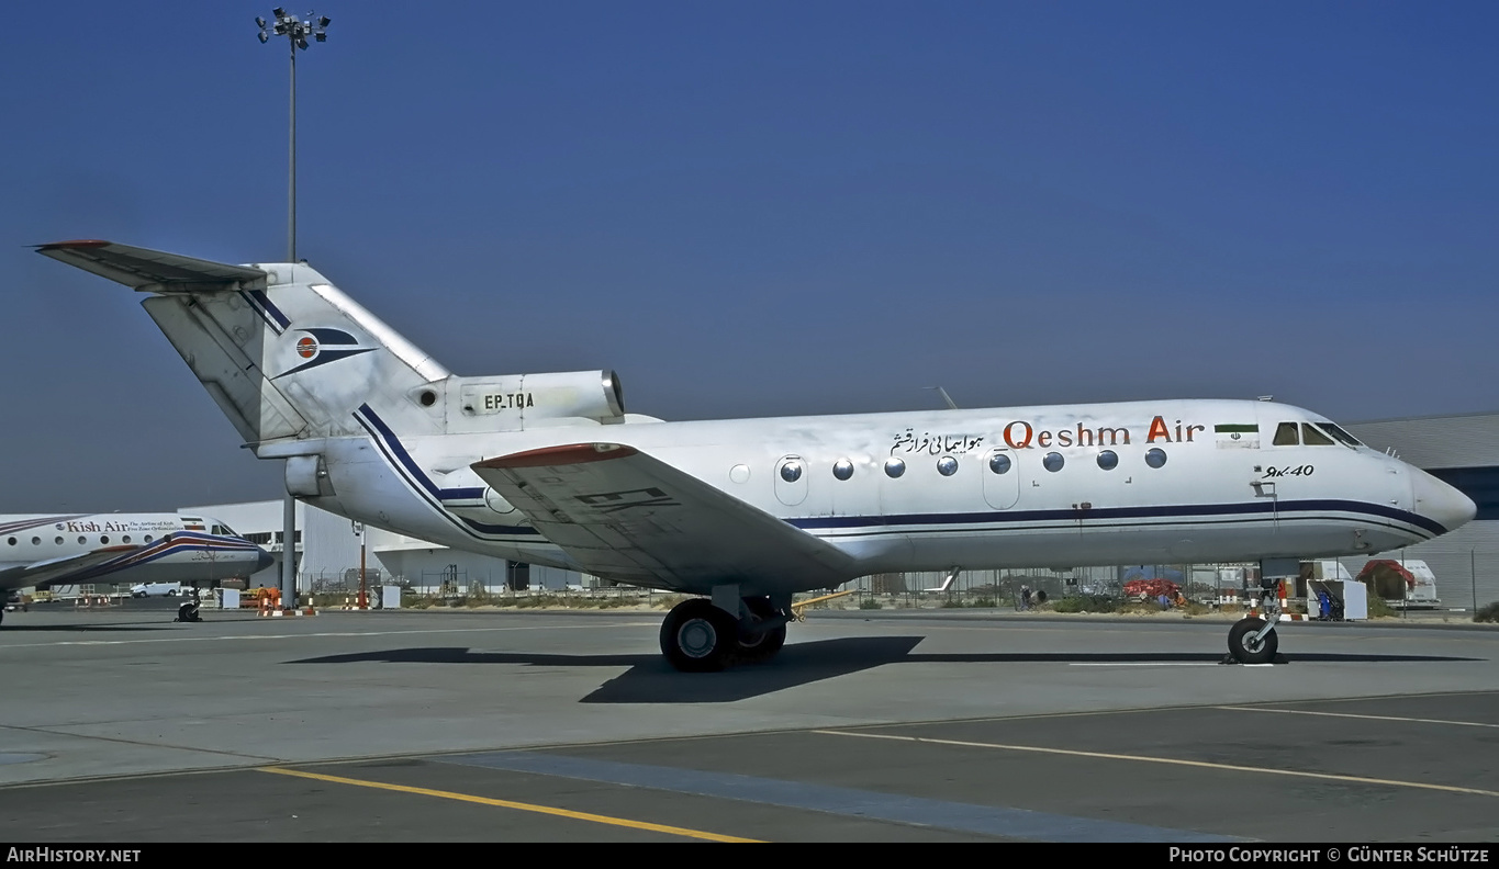
MULTIPOLYGON (((6 28, 0 511, 279 497, 132 292, 28 247, 283 258, 270 7, 6 28)), ((456 373, 669 420, 1499 409, 1493 3, 316 12, 298 256, 456 373)))

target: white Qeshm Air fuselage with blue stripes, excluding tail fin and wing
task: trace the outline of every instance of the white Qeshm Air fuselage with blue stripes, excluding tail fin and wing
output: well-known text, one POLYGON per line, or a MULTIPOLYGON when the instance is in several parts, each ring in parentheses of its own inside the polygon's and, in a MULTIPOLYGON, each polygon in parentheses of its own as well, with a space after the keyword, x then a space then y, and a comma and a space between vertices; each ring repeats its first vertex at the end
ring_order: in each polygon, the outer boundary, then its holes
POLYGON ((421 539, 576 568, 522 514, 504 512, 469 464, 607 440, 838 545, 860 574, 1372 554, 1447 530, 1417 503, 1424 472, 1364 446, 1271 445, 1288 421, 1322 418, 1268 402, 1175 400, 406 437, 373 427, 325 442, 334 496, 310 500, 421 539), (1258 426, 1258 445, 1220 426, 1258 426), (1117 466, 1100 466, 1105 449, 1117 466), (1165 464, 1147 463, 1151 449, 1165 464), (1048 454, 1061 457, 1058 470, 1045 467, 1048 454), (991 469, 994 455, 1009 458, 1007 472, 991 469), (884 469, 892 458, 905 463, 898 478, 884 469), (785 461, 800 464, 797 479, 782 478, 785 461), (839 461, 853 467, 847 479, 833 473, 839 461))

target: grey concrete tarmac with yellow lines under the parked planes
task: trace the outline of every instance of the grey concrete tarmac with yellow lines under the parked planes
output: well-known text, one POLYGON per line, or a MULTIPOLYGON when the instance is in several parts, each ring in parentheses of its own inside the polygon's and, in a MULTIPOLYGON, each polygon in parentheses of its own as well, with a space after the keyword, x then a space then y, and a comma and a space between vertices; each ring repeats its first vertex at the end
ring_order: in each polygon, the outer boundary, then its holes
POLYGON ((174 604, 6 614, 0 841, 1499 841, 1492 626, 174 604))

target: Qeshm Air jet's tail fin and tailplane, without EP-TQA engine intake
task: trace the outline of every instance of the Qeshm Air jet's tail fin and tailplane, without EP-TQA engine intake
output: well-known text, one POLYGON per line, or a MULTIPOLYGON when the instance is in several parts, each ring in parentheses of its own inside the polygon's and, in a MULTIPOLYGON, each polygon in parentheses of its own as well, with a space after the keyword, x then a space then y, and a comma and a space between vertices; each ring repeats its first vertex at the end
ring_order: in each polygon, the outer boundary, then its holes
POLYGON ((151 295, 142 306, 247 443, 445 430, 442 366, 303 264, 223 265, 105 241, 39 253, 151 295))

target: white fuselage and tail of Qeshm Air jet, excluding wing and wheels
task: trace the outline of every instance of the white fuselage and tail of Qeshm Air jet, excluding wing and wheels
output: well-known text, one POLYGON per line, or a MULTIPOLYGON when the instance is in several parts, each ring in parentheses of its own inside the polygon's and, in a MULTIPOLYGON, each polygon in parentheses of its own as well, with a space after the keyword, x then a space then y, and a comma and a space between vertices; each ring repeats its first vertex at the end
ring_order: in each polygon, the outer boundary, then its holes
MULTIPOLYGON (((1285 423, 1325 423, 1288 405, 1162 400, 663 423, 627 414, 612 372, 450 375, 306 264, 232 267, 87 240, 39 252, 148 292, 147 313, 244 442, 261 458, 286 460, 291 493, 511 560, 582 568, 471 466, 591 442, 633 446, 851 556, 835 577, 785 575, 757 595, 955 566, 1375 554, 1445 533, 1477 509, 1456 488, 1364 446, 1327 434, 1318 436, 1324 445, 1276 445, 1285 423), (1115 466, 1100 464, 1105 449, 1115 466), (1165 457, 1159 467, 1147 461, 1153 449, 1165 457), (1060 467, 1048 467, 1049 454, 1060 467), (991 469, 995 457, 1009 461, 1006 473, 991 469), (904 460, 899 476, 886 473, 892 458, 904 460), (787 461, 800 475, 782 476, 787 461), (833 469, 844 461, 851 473, 839 479, 833 469)), ((688 581, 679 590, 729 596, 717 593, 717 577, 651 575, 667 577, 661 587, 688 581)))

